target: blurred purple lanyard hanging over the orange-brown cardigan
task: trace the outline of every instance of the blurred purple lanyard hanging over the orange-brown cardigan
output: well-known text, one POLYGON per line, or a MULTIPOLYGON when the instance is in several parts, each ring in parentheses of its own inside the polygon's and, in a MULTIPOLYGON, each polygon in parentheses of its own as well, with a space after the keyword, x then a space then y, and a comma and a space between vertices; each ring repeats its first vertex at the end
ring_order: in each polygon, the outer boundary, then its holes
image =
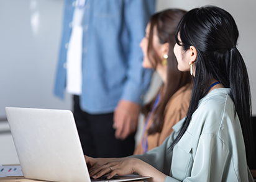
POLYGON ((147 116, 147 119, 146 119, 146 122, 144 124, 144 128, 143 128, 143 137, 142 137, 142 150, 143 150, 143 153, 147 152, 148 150, 148 141, 147 141, 147 125, 149 124, 149 120, 153 114, 153 112, 155 111, 155 108, 157 108, 157 105, 160 101, 160 98, 161 98, 161 94, 159 93, 158 96, 157 96, 157 99, 155 100, 155 103, 153 104, 153 108, 152 110, 150 111, 149 115, 147 116))

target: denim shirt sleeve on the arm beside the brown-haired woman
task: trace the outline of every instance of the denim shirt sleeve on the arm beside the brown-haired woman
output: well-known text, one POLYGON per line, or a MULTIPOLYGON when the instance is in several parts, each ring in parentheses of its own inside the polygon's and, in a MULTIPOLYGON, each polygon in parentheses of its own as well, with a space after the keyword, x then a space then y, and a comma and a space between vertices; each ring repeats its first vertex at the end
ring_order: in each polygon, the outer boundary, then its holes
POLYGON ((142 67, 143 53, 140 41, 144 38, 145 27, 150 15, 155 12, 155 0, 126 0, 124 19, 129 30, 130 53, 127 69, 127 80, 121 98, 142 104, 143 97, 149 88, 152 70, 142 67))

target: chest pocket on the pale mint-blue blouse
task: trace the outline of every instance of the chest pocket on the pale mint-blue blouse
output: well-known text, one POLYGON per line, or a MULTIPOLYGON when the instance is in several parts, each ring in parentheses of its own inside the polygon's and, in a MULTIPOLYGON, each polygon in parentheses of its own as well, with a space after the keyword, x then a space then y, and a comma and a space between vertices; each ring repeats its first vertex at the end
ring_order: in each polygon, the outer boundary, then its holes
POLYGON ((183 181, 191 174, 193 165, 192 140, 193 136, 186 131, 173 148, 171 173, 172 177, 177 180, 183 181))

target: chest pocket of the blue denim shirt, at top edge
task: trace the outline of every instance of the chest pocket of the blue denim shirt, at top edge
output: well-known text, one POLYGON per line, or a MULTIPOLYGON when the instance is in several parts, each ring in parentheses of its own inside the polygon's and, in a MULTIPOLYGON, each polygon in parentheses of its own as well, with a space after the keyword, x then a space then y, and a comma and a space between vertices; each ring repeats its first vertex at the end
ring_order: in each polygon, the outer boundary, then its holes
POLYGON ((94 15, 98 18, 119 17, 122 12, 121 0, 94 0, 94 15))

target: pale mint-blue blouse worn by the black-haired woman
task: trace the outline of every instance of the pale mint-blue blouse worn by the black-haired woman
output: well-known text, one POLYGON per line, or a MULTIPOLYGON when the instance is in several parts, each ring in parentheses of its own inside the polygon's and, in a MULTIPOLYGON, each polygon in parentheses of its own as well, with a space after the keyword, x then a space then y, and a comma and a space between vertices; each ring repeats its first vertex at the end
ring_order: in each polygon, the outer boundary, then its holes
POLYGON ((242 129, 229 89, 214 89, 199 102, 187 131, 169 147, 184 119, 159 147, 134 155, 167 175, 165 181, 254 181, 247 167, 242 129))

